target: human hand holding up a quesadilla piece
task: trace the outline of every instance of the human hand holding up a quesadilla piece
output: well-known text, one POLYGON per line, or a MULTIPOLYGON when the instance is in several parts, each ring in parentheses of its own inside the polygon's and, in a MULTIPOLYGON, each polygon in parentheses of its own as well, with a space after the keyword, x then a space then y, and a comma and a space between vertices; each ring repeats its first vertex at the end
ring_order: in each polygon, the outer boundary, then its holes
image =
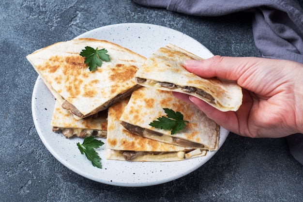
POLYGON ((184 66, 202 78, 226 78, 242 87, 242 106, 227 112, 197 97, 173 92, 227 130, 254 138, 279 138, 303 132, 303 64, 214 56, 203 61, 184 61, 184 66))

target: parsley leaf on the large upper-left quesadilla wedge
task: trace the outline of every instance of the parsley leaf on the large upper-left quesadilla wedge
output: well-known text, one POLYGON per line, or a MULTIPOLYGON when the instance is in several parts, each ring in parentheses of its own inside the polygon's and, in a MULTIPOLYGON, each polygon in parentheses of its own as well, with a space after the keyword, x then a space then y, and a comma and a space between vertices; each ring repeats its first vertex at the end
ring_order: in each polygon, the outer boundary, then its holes
POLYGON ((85 49, 80 52, 80 55, 85 58, 84 63, 88 63, 90 71, 94 71, 97 66, 101 67, 102 61, 109 61, 109 55, 106 53, 107 50, 105 48, 99 50, 98 47, 96 49, 85 47, 85 49))

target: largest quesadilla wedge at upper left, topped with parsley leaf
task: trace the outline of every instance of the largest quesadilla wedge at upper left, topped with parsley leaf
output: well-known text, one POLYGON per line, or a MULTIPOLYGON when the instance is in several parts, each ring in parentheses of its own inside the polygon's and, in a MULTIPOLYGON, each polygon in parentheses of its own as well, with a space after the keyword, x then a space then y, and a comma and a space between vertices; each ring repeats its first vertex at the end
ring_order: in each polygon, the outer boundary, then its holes
POLYGON ((36 50, 27 56, 64 109, 82 119, 105 110, 138 87, 134 75, 143 56, 104 40, 80 38, 36 50), (85 47, 105 48, 109 62, 90 71, 80 52, 85 47))

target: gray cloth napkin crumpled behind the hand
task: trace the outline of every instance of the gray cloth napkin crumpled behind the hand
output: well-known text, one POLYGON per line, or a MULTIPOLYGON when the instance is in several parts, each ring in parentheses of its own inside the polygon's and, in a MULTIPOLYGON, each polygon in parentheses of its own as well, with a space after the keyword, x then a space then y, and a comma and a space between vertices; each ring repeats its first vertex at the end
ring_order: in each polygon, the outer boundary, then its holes
MULTIPOLYGON (((264 58, 303 63, 303 0, 133 0, 193 16, 252 12, 256 47, 264 58)), ((290 153, 303 164, 303 134, 287 137, 290 153)))

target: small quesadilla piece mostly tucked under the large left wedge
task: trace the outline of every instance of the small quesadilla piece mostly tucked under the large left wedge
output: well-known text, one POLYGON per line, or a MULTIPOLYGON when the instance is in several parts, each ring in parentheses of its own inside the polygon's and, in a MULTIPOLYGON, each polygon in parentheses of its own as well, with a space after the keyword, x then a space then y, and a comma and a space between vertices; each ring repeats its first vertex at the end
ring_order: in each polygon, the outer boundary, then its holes
POLYGON ((96 136, 106 138, 107 134, 107 111, 101 111, 81 120, 74 119, 73 114, 63 109, 56 101, 55 109, 51 119, 53 131, 61 131, 66 138, 77 136, 85 138, 96 136))

